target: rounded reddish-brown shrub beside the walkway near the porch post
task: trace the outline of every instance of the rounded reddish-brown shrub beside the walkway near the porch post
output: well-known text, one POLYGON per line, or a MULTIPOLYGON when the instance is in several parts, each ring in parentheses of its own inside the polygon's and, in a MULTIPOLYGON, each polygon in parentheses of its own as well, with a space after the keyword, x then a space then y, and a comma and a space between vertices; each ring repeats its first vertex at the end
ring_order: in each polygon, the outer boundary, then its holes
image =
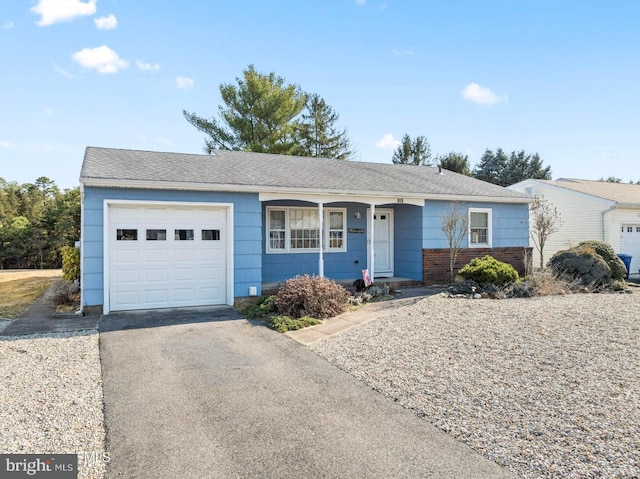
POLYGON ((324 319, 347 309, 349 292, 335 281, 321 276, 296 276, 278 290, 275 307, 292 318, 324 319))

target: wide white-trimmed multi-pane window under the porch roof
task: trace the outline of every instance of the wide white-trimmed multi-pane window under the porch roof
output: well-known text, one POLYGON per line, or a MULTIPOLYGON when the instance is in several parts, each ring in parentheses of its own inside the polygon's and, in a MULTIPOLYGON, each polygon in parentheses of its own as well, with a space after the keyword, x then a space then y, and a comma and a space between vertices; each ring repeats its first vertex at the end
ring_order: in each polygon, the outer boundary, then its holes
POLYGON ((267 253, 303 253, 347 250, 347 210, 325 208, 323 231, 317 208, 267 207, 267 253))

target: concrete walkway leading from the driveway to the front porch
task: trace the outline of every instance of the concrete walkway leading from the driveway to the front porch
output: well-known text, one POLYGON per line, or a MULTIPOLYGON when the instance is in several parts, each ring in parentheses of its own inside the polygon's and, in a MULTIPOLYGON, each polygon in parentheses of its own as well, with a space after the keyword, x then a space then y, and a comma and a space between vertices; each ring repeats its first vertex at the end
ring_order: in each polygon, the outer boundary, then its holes
POLYGON ((285 334, 300 344, 311 344, 345 329, 373 321, 398 308, 415 304, 424 297, 438 294, 442 290, 443 288, 403 288, 393 299, 368 303, 355 311, 347 311, 333 318, 325 319, 322 324, 317 326, 310 326, 298 331, 289 331, 285 334))

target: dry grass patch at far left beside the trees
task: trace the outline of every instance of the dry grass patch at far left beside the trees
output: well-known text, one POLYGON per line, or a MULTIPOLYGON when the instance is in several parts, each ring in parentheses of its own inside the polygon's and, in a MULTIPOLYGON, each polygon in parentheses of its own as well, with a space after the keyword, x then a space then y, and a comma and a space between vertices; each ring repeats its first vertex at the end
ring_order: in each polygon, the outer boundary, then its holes
POLYGON ((0 271, 0 318, 20 316, 61 275, 59 269, 0 271))

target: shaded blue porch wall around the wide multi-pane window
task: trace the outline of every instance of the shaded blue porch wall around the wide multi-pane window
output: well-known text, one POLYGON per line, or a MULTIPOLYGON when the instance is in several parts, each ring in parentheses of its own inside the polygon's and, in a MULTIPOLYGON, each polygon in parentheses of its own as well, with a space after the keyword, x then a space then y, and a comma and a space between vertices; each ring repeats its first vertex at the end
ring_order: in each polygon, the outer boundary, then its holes
MULTIPOLYGON (((317 207, 313 203, 300 201, 273 201, 267 206, 304 206, 317 207)), ((347 209, 347 251, 324 252, 324 274, 332 279, 354 279, 362 276, 367 267, 367 205, 358 203, 329 203, 325 208, 347 209), (360 218, 355 217, 355 212, 360 218), (362 230, 363 233, 349 233, 349 228, 362 230)), ((266 253, 266 221, 262 231, 262 278, 265 283, 286 281, 301 274, 318 274, 318 253, 266 253)))

